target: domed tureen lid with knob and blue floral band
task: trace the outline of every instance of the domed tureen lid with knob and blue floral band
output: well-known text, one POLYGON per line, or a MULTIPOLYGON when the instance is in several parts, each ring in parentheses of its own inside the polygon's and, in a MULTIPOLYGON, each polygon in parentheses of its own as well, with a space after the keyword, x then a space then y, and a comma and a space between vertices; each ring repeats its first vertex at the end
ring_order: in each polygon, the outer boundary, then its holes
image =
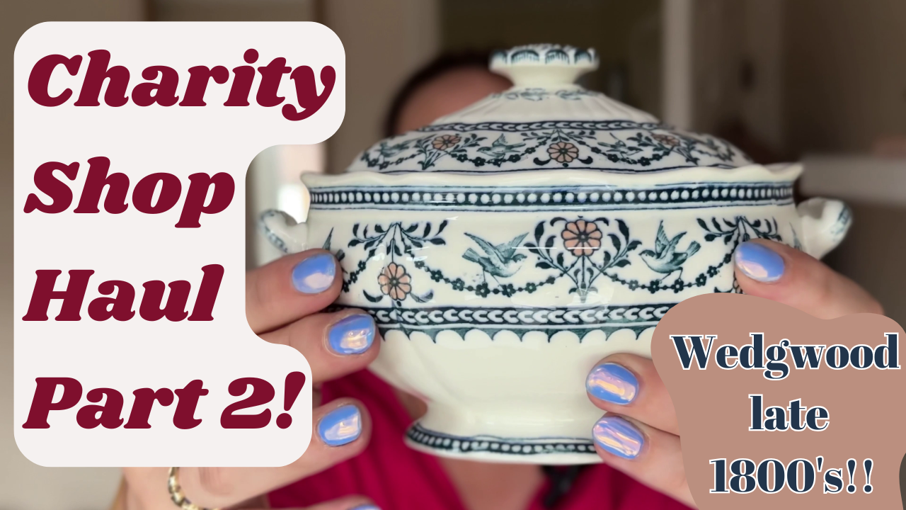
POLYGON ((673 129, 574 83, 597 67, 593 49, 532 44, 498 51, 490 69, 512 88, 374 144, 349 171, 639 173, 752 164, 728 142, 673 129))

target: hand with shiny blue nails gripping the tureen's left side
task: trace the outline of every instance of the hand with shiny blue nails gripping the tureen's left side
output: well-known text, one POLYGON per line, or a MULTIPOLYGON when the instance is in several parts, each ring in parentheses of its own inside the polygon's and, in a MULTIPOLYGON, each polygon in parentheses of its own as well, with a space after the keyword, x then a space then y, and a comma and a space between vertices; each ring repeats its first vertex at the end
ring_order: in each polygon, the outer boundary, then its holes
MULTIPOLYGON (((283 467, 181 467, 179 483, 203 508, 266 508, 268 492, 311 476, 352 456, 368 444, 371 421, 361 402, 339 398, 321 406, 320 383, 365 368, 378 355, 374 320, 361 310, 322 313, 340 295, 342 272, 324 250, 286 256, 246 273, 246 319, 259 337, 301 352, 312 367, 312 442, 303 456, 283 467)), ((228 447, 228 446, 225 446, 228 447)), ((123 469, 120 508, 174 510, 166 467, 123 469)), ((351 510, 368 505, 346 497, 312 507, 351 510)))

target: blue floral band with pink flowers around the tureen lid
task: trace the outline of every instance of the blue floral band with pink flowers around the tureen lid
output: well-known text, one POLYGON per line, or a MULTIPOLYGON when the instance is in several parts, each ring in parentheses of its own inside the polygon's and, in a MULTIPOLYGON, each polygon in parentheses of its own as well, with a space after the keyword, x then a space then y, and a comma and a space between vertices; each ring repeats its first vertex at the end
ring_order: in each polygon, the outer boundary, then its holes
POLYGON ((432 125, 390 138, 362 152, 359 162, 364 168, 358 170, 513 172, 565 168, 651 172, 698 166, 735 168, 751 163, 728 142, 660 124, 492 124, 432 125))

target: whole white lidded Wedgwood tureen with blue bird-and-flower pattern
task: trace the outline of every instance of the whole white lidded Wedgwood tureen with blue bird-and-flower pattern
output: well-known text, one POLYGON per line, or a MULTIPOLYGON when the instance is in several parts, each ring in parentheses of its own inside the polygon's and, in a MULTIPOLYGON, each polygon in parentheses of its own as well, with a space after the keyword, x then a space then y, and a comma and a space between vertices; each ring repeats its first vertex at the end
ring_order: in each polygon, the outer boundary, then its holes
POLYGON ((732 254, 763 238, 822 256, 843 203, 795 206, 798 164, 762 166, 573 84, 593 50, 531 45, 490 67, 513 88, 378 142, 342 175, 304 175, 304 222, 265 212, 287 252, 331 250, 338 306, 369 311, 371 369, 423 398, 410 446, 538 464, 597 461, 594 364, 650 355, 675 304, 737 290, 732 254))

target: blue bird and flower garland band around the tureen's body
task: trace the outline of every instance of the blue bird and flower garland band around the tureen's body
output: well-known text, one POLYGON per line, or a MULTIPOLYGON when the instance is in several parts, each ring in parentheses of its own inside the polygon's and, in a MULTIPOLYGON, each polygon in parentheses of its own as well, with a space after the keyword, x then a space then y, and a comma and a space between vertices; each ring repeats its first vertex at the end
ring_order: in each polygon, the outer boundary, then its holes
MULTIPOLYGON (((474 242, 475 248, 468 248, 461 256, 476 265, 476 276, 480 283, 450 277, 448 270, 430 265, 425 257, 420 257, 414 251, 425 245, 446 245, 443 232, 448 226, 447 221, 441 222, 437 227, 430 222, 406 224, 396 221, 387 226, 362 226, 356 223, 352 228, 352 239, 346 244, 346 251, 339 250, 337 256, 342 260, 349 255, 349 250, 361 247, 355 269, 344 271, 343 291, 349 292, 352 283, 368 267, 367 262, 375 259, 378 250, 381 250, 384 266, 375 281, 375 288, 371 292, 362 290, 364 297, 372 303, 380 303, 385 298, 389 298, 392 306, 402 306, 407 299, 428 303, 434 294, 430 289, 432 284, 444 284, 450 289, 474 294, 481 299, 492 294, 509 298, 522 293, 532 294, 545 285, 553 285, 560 280, 568 280, 571 283, 569 293, 576 294, 584 303, 590 293, 599 291, 596 287, 598 281, 651 294, 679 294, 693 287, 705 288, 708 281, 718 276, 720 270, 730 263, 733 251, 740 242, 756 238, 784 241, 774 219, 753 220, 746 216, 736 216, 718 220, 717 217, 711 217, 699 218, 698 224, 701 229, 699 232, 679 231, 668 235, 661 222, 658 235, 653 240, 635 239, 627 222, 620 218, 591 218, 582 215, 541 221, 535 225, 531 237, 529 232, 524 232, 499 244, 466 232, 464 235, 474 242), (681 245, 680 240, 687 234, 690 238, 688 244, 681 245), (691 239, 692 237, 701 242, 691 239), (704 270, 684 280, 684 265, 699 253, 701 243, 718 240, 723 241, 727 247, 720 259, 712 261, 704 270), (526 252, 534 255, 535 259, 527 260, 526 252), (415 272, 404 262, 411 264, 415 272), (519 285, 507 280, 525 263, 547 271, 546 276, 519 285), (650 270, 651 279, 623 276, 621 269, 631 264, 650 270)), ((333 231, 330 237, 333 237, 333 231)), ((331 240, 328 239, 324 243, 324 249, 331 250, 330 245, 331 240)), ((348 267, 347 264, 344 264, 344 268, 348 267)), ((633 275, 637 273, 637 270, 632 271, 633 275)), ((721 290, 714 288, 712 291, 721 290)))

